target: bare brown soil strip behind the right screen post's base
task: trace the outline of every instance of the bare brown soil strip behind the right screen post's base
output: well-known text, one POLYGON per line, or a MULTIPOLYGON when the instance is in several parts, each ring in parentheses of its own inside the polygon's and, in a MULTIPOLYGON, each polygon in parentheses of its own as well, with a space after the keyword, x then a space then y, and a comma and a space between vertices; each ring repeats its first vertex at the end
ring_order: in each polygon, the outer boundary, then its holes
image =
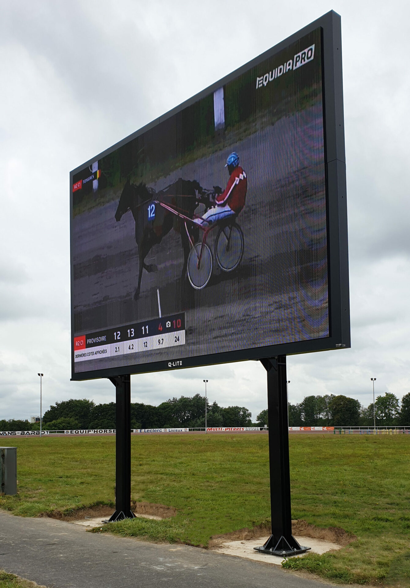
MULTIPOLYGON (((217 547, 226 540, 229 541, 246 541, 249 539, 256 539, 257 537, 266 537, 271 533, 271 523, 263 523, 249 529, 238 529, 232 531, 232 533, 226 533, 224 535, 214 535, 211 537, 208 543, 209 549, 217 547)), ((292 535, 299 537, 312 537, 312 539, 322 539, 330 543, 337 543, 338 545, 345 546, 356 539, 355 535, 346 533, 344 529, 339 527, 328 527, 327 529, 316 527, 314 524, 306 523, 305 520, 298 519, 292 520, 292 535)))

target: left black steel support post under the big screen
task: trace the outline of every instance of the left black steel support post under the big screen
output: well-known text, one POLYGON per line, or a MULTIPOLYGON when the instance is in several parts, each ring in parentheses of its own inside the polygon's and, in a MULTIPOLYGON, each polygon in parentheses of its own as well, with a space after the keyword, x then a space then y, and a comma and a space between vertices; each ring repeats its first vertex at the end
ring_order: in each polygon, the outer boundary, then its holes
POLYGON ((109 523, 134 519, 131 510, 131 376, 109 378, 115 386, 115 513, 109 523))

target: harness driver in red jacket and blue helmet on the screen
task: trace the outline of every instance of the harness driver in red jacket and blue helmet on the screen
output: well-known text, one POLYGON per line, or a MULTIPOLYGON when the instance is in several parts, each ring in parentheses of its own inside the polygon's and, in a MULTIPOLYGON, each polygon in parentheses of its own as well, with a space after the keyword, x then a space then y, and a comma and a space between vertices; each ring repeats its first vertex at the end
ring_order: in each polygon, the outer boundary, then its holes
POLYGON ((225 168, 228 168, 229 181, 224 192, 216 195, 215 206, 212 206, 202 215, 202 218, 194 219, 198 225, 208 225, 216 220, 222 220, 229 216, 237 216, 245 206, 248 179, 246 173, 239 165, 239 155, 235 151, 226 159, 225 168))

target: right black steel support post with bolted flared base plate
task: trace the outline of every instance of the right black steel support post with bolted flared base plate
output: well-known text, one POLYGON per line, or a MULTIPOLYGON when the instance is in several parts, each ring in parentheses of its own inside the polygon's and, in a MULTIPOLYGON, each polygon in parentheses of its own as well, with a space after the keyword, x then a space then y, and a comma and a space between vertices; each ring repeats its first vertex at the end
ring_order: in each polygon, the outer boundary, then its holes
POLYGON ((305 553, 292 536, 286 356, 261 359, 268 372, 269 472, 272 534, 256 551, 281 557, 305 553))

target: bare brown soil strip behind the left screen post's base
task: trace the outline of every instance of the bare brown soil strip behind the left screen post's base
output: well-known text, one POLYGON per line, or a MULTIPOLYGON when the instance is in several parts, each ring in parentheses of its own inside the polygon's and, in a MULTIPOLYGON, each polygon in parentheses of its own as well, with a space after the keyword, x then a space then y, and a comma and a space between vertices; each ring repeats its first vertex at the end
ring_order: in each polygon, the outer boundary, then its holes
MULTIPOLYGON (((131 502, 131 509, 136 514, 154 515, 161 517, 161 519, 169 519, 176 515, 176 509, 173 506, 156 505, 151 502, 131 502)), ((114 511, 114 507, 109 505, 93 505, 80 509, 67 510, 65 512, 52 510, 51 512, 41 513, 39 517, 73 522, 75 520, 94 519, 96 517, 109 519, 114 511)))

